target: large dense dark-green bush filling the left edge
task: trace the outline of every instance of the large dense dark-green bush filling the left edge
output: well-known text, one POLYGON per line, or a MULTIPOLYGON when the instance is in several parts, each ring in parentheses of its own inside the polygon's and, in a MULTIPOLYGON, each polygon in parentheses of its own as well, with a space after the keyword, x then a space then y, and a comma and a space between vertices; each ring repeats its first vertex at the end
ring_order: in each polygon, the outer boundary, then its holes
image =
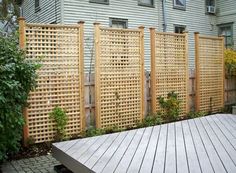
POLYGON ((29 92, 39 65, 25 59, 16 36, 0 37, 0 161, 17 152, 22 138, 29 92))

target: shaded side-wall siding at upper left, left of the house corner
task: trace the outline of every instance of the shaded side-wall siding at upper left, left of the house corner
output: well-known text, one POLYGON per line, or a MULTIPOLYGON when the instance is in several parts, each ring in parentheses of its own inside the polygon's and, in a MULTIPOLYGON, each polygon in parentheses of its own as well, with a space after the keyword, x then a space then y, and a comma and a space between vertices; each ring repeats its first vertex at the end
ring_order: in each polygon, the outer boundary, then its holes
POLYGON ((40 0, 40 11, 35 12, 34 0, 24 0, 23 16, 29 23, 60 23, 61 0, 40 0))

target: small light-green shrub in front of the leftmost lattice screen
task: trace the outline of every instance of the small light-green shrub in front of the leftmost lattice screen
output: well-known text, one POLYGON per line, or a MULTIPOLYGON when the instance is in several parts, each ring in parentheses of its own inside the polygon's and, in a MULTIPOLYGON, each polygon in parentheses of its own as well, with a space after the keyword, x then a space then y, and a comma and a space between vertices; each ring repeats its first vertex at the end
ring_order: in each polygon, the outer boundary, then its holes
POLYGON ((68 123, 68 116, 66 115, 66 112, 60 107, 55 107, 52 112, 49 113, 49 118, 52 119, 56 124, 55 140, 62 141, 65 139, 65 127, 68 123))

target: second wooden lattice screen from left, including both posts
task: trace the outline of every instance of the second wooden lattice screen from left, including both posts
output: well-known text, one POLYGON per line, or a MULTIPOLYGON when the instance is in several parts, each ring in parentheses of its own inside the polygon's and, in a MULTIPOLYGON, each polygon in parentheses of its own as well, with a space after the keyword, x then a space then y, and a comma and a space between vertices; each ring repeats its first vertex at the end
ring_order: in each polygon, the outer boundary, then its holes
POLYGON ((144 28, 95 24, 96 126, 134 126, 144 116, 144 28))

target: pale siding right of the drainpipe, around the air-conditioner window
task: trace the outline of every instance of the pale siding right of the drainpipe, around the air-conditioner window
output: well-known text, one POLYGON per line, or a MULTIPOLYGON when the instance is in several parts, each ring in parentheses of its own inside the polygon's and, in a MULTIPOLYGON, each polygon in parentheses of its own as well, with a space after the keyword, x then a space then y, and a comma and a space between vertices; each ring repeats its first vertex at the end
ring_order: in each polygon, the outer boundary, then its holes
MULTIPOLYGON (((161 1, 162 0, 158 0, 161 1)), ((173 8, 173 0, 166 0, 167 31, 174 32, 174 25, 184 25, 189 32, 189 67, 194 69, 194 32, 204 35, 217 35, 216 16, 205 11, 204 0, 186 0, 186 10, 173 8)), ((160 9, 159 29, 162 31, 162 9, 160 9)))

